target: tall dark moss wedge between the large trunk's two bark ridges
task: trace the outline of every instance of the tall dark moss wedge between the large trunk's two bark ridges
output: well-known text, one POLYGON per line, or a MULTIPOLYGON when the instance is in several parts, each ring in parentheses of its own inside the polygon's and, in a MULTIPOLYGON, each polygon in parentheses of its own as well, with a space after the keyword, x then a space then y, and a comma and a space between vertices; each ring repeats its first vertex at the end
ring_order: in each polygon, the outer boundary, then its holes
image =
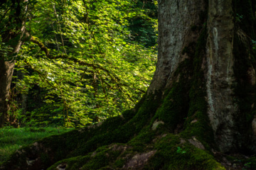
POLYGON ((196 136, 210 149, 214 145, 214 137, 207 115, 206 80, 201 68, 205 57, 206 38, 207 30, 204 28, 197 43, 191 43, 184 48, 189 59, 179 65, 175 73, 178 80, 156 111, 156 118, 163 120, 170 132, 183 129, 183 137, 196 136), (196 123, 191 123, 192 120, 196 120, 196 123))

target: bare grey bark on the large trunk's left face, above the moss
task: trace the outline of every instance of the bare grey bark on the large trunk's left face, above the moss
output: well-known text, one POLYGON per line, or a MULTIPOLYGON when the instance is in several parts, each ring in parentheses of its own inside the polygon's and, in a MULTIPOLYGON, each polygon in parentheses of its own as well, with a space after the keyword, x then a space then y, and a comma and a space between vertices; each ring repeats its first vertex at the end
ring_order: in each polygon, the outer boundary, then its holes
POLYGON ((206 11, 204 0, 159 0, 159 55, 148 94, 164 91, 173 83, 178 64, 188 57, 182 52, 184 47, 199 37, 198 31, 191 28, 201 26, 203 11, 206 11))

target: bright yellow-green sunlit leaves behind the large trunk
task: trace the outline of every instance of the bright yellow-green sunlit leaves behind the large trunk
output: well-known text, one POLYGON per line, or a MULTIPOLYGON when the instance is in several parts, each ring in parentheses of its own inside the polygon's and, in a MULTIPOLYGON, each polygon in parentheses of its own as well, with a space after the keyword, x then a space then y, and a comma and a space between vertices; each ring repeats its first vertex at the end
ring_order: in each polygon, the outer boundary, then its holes
POLYGON ((134 8, 135 3, 58 0, 37 1, 29 8, 27 30, 53 56, 49 59, 33 42, 25 42, 19 54, 17 68, 29 68, 18 83, 26 84, 23 92, 33 86, 44 91, 46 104, 35 107, 31 115, 46 117, 49 112, 45 124, 63 118, 66 126, 79 126, 118 115, 139 101, 154 74, 156 46, 135 42, 130 21, 141 16, 151 26, 156 19, 134 8), (59 55, 66 57, 54 57, 59 55))

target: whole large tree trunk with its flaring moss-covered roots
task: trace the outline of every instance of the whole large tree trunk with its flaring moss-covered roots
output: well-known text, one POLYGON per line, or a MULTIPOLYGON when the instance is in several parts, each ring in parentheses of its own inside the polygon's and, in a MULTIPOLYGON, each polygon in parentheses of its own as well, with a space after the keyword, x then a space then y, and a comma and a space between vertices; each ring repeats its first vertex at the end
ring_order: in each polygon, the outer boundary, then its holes
POLYGON ((255 157, 225 159, 256 154, 255 8, 159 0, 159 59, 137 106, 24 147, 0 169, 256 169, 255 157))

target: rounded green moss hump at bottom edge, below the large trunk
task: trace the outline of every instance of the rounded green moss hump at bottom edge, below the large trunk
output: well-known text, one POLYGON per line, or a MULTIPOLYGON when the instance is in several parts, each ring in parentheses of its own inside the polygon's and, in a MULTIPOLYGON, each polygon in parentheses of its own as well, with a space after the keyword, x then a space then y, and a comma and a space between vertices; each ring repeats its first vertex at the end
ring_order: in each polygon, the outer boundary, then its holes
POLYGON ((149 159, 151 169, 225 169, 214 157, 189 142, 181 144, 178 135, 166 135, 156 142, 154 157, 149 159), (177 152, 180 147, 185 152, 177 152))

